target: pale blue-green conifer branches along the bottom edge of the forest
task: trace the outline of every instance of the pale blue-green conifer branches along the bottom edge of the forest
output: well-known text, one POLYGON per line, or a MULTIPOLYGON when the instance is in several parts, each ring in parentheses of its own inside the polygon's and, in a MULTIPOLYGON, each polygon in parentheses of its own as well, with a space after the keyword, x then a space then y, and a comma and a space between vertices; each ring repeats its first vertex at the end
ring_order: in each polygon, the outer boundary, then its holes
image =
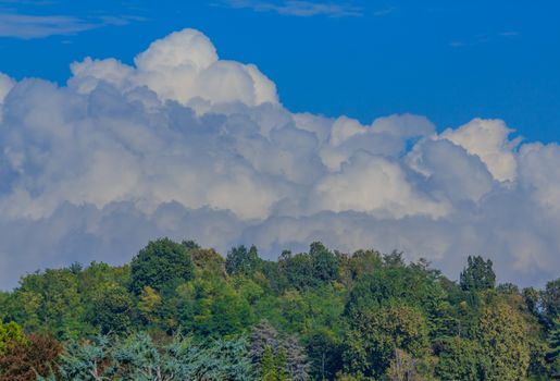
POLYGON ((254 373, 242 337, 197 342, 175 335, 158 344, 146 332, 113 342, 107 336, 73 342, 61 356, 59 370, 69 381, 246 381, 254 373))

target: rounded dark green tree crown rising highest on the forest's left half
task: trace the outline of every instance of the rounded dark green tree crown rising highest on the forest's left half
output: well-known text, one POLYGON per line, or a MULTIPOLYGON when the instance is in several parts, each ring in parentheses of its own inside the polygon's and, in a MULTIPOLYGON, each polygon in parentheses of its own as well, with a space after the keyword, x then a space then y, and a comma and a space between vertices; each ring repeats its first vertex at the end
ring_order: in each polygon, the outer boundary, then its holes
POLYGON ((169 238, 150 242, 130 263, 130 291, 140 295, 145 286, 171 293, 192 275, 190 255, 184 245, 169 238))

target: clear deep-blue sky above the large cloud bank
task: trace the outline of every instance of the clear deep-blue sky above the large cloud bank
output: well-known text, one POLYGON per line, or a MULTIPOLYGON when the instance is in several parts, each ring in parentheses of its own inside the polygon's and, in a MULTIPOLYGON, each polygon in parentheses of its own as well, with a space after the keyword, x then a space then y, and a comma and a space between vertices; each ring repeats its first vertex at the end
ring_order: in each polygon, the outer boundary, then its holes
POLYGON ((86 56, 130 63, 184 27, 256 63, 293 111, 411 112, 439 131, 499 118, 560 140, 558 1, 0 1, 0 72, 64 83, 86 56))

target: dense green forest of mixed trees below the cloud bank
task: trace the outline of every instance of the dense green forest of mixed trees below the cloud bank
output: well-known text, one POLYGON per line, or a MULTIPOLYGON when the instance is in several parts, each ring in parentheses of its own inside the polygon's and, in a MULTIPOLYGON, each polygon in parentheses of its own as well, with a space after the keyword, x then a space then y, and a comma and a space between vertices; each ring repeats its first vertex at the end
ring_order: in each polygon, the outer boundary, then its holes
POLYGON ((471 256, 446 278, 402 253, 225 257, 148 243, 129 263, 73 263, 0 293, 1 380, 550 380, 560 278, 496 284, 471 256))

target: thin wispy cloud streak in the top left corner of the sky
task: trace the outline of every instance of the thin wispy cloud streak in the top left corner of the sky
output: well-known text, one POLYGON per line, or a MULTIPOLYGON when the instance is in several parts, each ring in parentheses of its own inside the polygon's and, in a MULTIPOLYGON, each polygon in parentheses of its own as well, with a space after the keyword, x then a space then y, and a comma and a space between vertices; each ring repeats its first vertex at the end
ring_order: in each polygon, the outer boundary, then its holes
POLYGON ((54 35, 74 35, 103 26, 126 25, 130 21, 133 19, 127 16, 90 20, 65 15, 0 13, 0 37, 32 39, 54 35))

